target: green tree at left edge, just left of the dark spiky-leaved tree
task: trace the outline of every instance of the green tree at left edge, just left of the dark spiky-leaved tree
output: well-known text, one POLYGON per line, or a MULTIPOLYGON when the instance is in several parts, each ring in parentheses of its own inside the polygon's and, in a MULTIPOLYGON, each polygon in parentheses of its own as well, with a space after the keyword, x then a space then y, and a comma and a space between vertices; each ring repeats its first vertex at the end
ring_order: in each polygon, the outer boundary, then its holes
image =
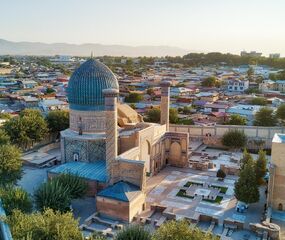
POLYGON ((0 189, 0 199, 7 215, 12 214, 13 210, 20 210, 24 213, 32 211, 32 201, 29 194, 20 187, 12 185, 0 189))

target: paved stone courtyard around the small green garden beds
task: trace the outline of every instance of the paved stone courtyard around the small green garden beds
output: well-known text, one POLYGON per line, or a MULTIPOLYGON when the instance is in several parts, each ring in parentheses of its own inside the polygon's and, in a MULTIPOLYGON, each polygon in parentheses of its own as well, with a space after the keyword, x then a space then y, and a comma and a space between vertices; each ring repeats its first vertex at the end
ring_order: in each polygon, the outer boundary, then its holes
POLYGON ((233 176, 232 178, 227 177, 224 181, 219 181, 210 172, 167 167, 148 180, 147 204, 148 206, 165 206, 176 214, 177 218, 196 219, 199 214, 202 214, 218 218, 219 224, 222 224, 224 219, 232 219, 245 222, 245 227, 248 227, 249 222, 260 222, 263 202, 265 202, 264 191, 261 190, 262 196, 259 203, 250 205, 246 213, 238 213, 235 210, 237 200, 234 197, 236 180, 237 177, 233 176), (189 182, 192 183, 191 187, 195 186, 196 196, 193 198, 177 196, 179 190, 185 188, 185 184, 189 182), (224 194, 219 193, 223 197, 220 203, 207 201, 207 194, 213 191, 210 186, 223 187, 226 190, 224 194), (207 191, 207 189, 210 190, 207 191))

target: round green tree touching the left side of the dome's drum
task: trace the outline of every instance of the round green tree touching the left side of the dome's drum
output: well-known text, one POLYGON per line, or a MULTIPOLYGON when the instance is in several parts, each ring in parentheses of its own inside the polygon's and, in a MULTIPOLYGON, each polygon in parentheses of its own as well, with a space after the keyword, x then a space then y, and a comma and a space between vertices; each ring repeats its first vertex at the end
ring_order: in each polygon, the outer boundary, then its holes
POLYGON ((59 133, 69 127, 69 112, 64 110, 51 111, 48 113, 46 121, 52 133, 59 133))

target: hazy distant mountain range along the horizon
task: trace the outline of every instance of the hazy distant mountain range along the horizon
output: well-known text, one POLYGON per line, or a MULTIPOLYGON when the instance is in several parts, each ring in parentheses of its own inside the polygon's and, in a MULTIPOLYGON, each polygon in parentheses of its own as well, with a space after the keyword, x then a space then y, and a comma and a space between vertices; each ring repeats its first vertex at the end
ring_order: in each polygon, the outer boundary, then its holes
POLYGON ((69 44, 41 42, 12 42, 0 39, 0 55, 72 55, 90 56, 182 56, 189 51, 170 46, 124 46, 103 44, 69 44))

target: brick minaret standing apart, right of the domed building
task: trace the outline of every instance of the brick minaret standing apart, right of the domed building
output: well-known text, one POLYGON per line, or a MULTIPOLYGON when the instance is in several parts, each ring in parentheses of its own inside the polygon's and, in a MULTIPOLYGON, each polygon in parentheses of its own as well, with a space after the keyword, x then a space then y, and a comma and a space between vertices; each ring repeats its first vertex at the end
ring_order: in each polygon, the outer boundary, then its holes
POLYGON ((160 124, 166 124, 166 131, 169 131, 169 95, 171 82, 161 82, 161 102, 160 102, 160 124))

